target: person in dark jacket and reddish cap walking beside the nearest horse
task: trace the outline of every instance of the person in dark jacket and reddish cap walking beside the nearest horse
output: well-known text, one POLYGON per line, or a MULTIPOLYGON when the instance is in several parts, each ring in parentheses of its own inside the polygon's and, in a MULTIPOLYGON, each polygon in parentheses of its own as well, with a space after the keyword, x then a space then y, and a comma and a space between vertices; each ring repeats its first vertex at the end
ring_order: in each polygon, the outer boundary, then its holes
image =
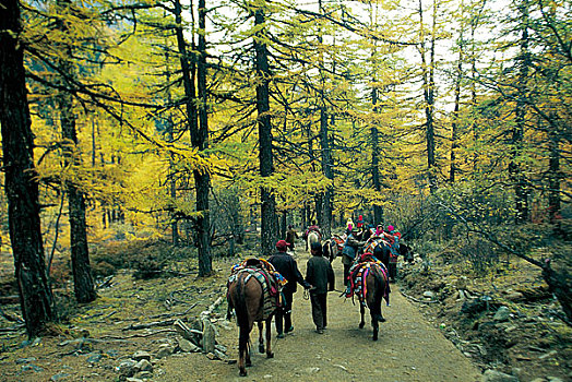
POLYGON ((291 301, 297 290, 297 284, 300 284, 305 289, 311 288, 311 285, 303 279, 302 274, 298 270, 296 260, 286 252, 287 248, 288 243, 285 240, 278 240, 278 242, 276 242, 277 252, 269 258, 269 263, 274 265, 276 271, 287 280, 282 289, 284 303, 282 309, 278 308, 276 310, 276 332, 278 332, 278 338, 284 338, 284 333, 294 331, 291 324, 291 301), (284 327, 286 330, 284 330, 284 327))

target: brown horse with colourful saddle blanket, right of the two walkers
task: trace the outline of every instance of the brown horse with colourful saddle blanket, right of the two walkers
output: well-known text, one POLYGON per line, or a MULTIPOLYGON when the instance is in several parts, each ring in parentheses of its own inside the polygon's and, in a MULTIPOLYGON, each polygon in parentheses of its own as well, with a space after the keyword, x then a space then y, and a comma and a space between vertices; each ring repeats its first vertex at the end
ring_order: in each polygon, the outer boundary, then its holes
MULTIPOLYGON (((366 253, 365 255, 371 255, 366 253)), ((389 299, 388 294, 388 273, 382 264, 376 262, 364 262, 355 268, 351 273, 351 278, 355 283, 354 289, 358 289, 357 296, 359 299, 359 312, 361 313, 361 321, 359 329, 366 325, 365 312, 366 307, 369 308, 371 315, 371 326, 373 327, 373 341, 378 341, 379 323, 385 322, 381 313, 381 300, 383 297, 389 299), (361 270, 361 272, 359 272, 361 270)))

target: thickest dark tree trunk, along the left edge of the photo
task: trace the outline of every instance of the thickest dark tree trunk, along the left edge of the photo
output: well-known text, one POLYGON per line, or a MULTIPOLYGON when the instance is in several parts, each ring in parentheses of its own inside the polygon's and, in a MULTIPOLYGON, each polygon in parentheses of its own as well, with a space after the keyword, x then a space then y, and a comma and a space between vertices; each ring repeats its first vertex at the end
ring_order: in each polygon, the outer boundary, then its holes
POLYGON ((0 126, 8 199, 8 226, 14 255, 20 306, 29 337, 52 319, 34 171, 34 138, 26 97, 19 2, 0 7, 0 126))

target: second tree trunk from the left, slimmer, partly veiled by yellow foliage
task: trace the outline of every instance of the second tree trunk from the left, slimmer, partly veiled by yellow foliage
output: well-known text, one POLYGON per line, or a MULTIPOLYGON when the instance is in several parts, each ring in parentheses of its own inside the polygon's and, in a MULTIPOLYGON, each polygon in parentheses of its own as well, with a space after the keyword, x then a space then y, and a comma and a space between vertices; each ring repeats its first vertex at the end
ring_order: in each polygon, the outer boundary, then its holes
MULTIPOLYGON (((68 0, 58 0, 58 5, 63 12, 70 7, 68 0)), ((67 33, 68 27, 63 22, 59 29, 67 33)), ((64 47, 65 56, 72 57, 71 48, 64 47)), ((59 60, 59 68, 64 77, 60 79, 63 88, 68 85, 68 79, 74 79, 73 64, 67 59, 59 60)), ((73 110, 73 98, 70 92, 61 91, 58 95, 58 108, 60 111, 60 124, 63 145, 63 156, 65 167, 78 167, 81 165, 78 153, 78 132, 75 128, 75 114, 73 110)), ((71 171, 73 174, 73 170, 71 171)), ((76 187, 73 179, 65 180, 68 192, 68 208, 70 220, 70 247, 71 247, 71 267, 73 274, 73 289, 78 302, 91 302, 97 298, 95 283, 90 265, 90 248, 87 246, 87 225, 85 223, 85 198, 83 192, 76 187)))

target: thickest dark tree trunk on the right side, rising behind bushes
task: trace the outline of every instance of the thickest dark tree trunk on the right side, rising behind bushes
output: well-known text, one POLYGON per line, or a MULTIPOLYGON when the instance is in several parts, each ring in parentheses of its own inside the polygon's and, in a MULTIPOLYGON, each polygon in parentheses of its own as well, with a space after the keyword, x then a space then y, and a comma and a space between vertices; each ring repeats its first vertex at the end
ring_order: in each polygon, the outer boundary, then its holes
POLYGON ((515 110, 515 123, 511 132, 512 159, 509 164, 509 172, 513 182, 515 202, 515 223, 521 224, 528 219, 528 191, 526 178, 521 168, 520 156, 523 151, 524 127, 526 119, 527 76, 531 68, 531 52, 528 51, 528 1, 522 0, 519 5, 522 17, 521 52, 517 58, 520 73, 517 79, 517 100, 515 110))

